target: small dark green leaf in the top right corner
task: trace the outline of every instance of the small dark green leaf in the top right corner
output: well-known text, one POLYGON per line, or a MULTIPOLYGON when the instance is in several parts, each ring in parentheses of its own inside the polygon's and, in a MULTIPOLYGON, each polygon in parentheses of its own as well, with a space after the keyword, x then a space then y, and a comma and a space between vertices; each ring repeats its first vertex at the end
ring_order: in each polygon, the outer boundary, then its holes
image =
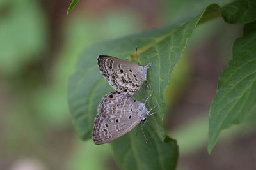
POLYGON ((237 0, 221 8, 221 14, 228 23, 246 24, 256 20, 255 9, 255 0, 237 0))

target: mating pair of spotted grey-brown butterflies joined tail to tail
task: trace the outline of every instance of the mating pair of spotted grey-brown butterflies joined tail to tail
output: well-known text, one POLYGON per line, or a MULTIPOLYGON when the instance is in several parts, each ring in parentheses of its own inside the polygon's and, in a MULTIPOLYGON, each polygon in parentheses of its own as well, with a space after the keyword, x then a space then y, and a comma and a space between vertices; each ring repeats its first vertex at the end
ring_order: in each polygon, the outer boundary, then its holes
POLYGON ((141 121, 145 122, 146 115, 152 115, 145 103, 131 97, 147 80, 147 69, 151 64, 139 66, 127 60, 106 55, 99 55, 97 60, 100 73, 116 90, 104 96, 98 106, 92 139, 99 145, 119 138, 141 121))

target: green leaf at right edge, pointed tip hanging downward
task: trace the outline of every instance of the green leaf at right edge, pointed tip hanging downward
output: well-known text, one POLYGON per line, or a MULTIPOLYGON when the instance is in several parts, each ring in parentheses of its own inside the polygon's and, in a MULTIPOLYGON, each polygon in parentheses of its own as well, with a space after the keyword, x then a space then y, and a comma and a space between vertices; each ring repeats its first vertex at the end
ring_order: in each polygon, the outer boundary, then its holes
POLYGON ((244 118, 256 108, 256 23, 246 24, 242 38, 233 46, 233 59, 221 73, 209 118, 208 152, 216 144, 220 131, 244 118), (254 28, 254 29, 252 29, 254 28))

